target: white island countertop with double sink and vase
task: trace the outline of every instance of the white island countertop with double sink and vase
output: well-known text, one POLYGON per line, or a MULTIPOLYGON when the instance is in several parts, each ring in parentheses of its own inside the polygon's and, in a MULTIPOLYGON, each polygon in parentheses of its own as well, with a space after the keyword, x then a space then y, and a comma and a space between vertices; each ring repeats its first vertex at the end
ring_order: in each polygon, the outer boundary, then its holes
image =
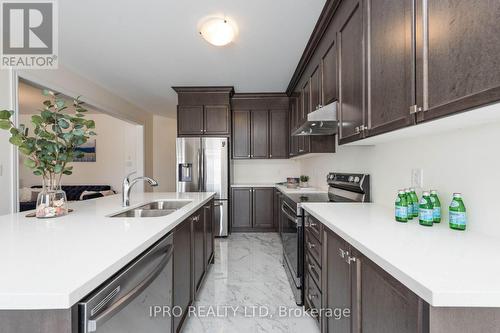
POLYGON ((131 208, 191 202, 164 217, 110 218, 121 197, 71 203, 60 218, 0 216, 0 310, 67 309, 207 203, 214 193, 132 193, 131 208))

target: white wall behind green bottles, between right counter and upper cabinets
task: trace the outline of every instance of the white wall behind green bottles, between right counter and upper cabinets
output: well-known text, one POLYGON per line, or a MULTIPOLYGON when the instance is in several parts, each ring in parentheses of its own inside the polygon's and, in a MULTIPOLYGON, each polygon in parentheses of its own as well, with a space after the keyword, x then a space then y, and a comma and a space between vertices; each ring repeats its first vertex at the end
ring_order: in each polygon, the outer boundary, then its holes
MULTIPOLYGON (((500 112, 500 104, 493 111, 500 112)), ((469 228, 500 234, 498 143, 500 122, 494 122, 372 147, 340 146, 336 154, 300 163, 313 186, 325 187, 330 171, 369 173, 373 201, 388 207, 393 207, 398 189, 410 186, 412 168, 421 168, 424 188, 438 190, 445 216, 452 193, 462 192, 469 228)))

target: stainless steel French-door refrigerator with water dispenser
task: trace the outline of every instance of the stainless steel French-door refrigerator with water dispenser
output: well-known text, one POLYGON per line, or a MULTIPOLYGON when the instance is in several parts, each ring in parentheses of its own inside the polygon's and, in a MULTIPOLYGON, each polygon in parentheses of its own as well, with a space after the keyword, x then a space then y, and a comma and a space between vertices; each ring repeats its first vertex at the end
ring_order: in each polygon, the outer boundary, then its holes
POLYGON ((215 192, 215 235, 228 235, 228 138, 177 138, 177 192, 215 192))

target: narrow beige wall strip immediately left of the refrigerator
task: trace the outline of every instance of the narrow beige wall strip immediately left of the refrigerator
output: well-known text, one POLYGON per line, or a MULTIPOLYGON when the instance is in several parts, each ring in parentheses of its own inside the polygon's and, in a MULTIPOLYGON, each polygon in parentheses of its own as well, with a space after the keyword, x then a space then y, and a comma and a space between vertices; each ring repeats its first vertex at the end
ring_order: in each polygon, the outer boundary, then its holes
POLYGON ((175 139, 177 120, 153 117, 153 177, 158 181, 155 192, 175 192, 175 139))

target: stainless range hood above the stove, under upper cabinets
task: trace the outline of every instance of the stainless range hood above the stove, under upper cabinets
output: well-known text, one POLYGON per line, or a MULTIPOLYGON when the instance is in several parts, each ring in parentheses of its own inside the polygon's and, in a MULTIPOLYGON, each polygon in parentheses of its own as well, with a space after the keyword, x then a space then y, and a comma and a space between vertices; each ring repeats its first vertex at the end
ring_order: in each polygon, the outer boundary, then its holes
POLYGON ((293 131, 293 136, 331 135, 337 133, 337 105, 332 102, 307 115, 307 121, 293 131))

